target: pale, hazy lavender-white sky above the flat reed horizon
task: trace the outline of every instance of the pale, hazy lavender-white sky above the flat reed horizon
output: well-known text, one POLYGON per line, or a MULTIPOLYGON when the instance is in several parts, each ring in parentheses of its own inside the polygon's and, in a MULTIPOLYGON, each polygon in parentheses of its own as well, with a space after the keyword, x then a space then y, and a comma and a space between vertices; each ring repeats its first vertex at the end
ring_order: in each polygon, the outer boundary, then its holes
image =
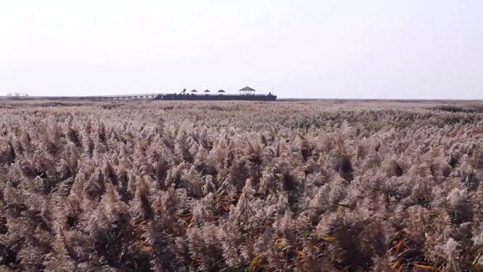
POLYGON ((483 99, 481 0, 0 0, 0 95, 483 99))

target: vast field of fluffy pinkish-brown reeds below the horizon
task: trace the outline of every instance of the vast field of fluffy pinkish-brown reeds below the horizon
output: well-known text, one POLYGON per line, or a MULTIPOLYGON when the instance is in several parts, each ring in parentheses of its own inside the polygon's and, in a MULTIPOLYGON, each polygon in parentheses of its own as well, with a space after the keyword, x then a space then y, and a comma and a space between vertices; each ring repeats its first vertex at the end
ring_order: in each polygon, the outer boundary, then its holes
POLYGON ((0 101, 0 271, 483 271, 483 102, 0 101))

